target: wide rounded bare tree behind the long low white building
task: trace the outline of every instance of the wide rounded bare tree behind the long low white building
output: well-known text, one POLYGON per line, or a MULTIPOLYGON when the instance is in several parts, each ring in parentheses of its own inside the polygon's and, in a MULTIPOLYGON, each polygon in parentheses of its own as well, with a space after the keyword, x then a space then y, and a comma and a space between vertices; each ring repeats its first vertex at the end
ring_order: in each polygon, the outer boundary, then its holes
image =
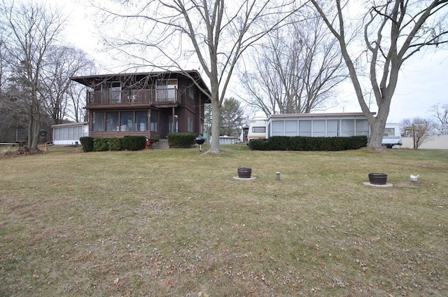
POLYGON ((244 71, 241 83, 250 99, 267 116, 309 113, 324 109, 333 90, 346 78, 337 40, 318 15, 269 32, 255 53, 255 72, 244 71))

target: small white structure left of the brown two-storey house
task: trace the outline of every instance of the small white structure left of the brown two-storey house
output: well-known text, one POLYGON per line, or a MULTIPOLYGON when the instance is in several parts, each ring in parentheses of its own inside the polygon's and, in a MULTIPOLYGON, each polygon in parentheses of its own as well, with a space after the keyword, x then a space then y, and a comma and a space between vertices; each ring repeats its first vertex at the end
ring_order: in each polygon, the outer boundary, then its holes
POLYGON ((73 145, 80 144, 80 137, 89 136, 87 122, 52 125, 53 144, 73 145))

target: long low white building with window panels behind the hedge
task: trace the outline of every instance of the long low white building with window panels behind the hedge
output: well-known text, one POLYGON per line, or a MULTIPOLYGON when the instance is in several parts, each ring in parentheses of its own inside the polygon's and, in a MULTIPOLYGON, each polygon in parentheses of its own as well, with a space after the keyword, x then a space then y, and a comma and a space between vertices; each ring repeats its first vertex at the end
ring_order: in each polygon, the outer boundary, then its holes
MULTIPOLYGON (((285 113, 267 118, 272 136, 350 137, 366 135, 370 126, 363 113, 285 113)), ((250 132, 250 131, 249 131, 250 132)))

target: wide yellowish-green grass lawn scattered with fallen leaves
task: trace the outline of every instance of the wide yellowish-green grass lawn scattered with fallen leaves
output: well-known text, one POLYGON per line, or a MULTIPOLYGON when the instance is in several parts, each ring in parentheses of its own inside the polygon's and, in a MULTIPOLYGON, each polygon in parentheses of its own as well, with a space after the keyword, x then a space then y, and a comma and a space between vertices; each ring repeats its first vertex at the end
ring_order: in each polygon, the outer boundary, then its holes
POLYGON ((0 158, 0 296, 447 296, 448 151, 203 153, 0 158))

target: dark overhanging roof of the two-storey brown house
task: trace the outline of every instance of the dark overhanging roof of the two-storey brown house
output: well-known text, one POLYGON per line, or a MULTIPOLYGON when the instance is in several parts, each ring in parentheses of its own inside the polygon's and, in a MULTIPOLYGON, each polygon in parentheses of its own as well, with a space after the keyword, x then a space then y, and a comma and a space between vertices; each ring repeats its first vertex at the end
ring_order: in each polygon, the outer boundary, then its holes
POLYGON ((141 81, 146 77, 167 79, 167 78, 179 78, 181 76, 195 80, 203 90, 205 90, 209 94, 211 93, 209 87, 202 80, 202 77, 197 70, 98 74, 92 76, 72 76, 70 79, 82 85, 86 85, 87 87, 93 87, 94 85, 99 85, 99 83, 103 83, 105 81, 121 81, 123 78, 133 78, 135 81, 141 81))

